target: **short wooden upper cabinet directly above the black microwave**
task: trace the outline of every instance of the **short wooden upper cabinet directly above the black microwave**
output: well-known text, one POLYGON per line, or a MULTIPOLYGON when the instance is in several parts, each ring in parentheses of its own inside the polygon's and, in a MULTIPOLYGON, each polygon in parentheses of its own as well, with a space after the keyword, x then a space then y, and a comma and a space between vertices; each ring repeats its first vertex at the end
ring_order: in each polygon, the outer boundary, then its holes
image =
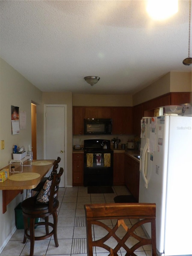
POLYGON ((111 107, 85 107, 85 118, 112 118, 111 107))

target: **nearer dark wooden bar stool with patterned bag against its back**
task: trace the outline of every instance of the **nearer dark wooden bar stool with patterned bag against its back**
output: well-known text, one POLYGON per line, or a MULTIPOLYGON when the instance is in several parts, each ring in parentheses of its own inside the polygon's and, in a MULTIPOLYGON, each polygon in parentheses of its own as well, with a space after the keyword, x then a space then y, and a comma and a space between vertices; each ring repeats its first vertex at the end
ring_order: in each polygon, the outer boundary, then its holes
POLYGON ((34 197, 27 198, 21 203, 22 214, 24 218, 23 243, 26 242, 27 238, 30 239, 30 256, 33 256, 34 253, 35 240, 43 240, 53 235, 55 246, 59 246, 57 239, 57 208, 59 206, 58 188, 62 174, 62 167, 60 168, 58 174, 55 172, 51 173, 47 179, 47 182, 44 184, 42 191, 40 191, 38 194, 43 194, 41 198, 40 196, 35 195, 34 197), (49 222, 49 215, 53 216, 53 223, 49 222), (36 218, 44 218, 45 221, 35 224, 36 218), (45 225, 46 234, 42 236, 35 236, 35 227, 39 225, 45 225), (49 232, 49 226, 52 227, 51 232, 49 232))

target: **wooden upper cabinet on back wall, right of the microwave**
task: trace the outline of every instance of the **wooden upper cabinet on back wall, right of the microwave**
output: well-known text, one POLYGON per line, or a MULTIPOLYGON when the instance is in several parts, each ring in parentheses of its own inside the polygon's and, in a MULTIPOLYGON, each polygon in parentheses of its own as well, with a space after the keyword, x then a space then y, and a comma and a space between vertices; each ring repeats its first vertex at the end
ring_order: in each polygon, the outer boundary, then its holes
POLYGON ((132 134, 132 107, 113 107, 113 134, 132 134))

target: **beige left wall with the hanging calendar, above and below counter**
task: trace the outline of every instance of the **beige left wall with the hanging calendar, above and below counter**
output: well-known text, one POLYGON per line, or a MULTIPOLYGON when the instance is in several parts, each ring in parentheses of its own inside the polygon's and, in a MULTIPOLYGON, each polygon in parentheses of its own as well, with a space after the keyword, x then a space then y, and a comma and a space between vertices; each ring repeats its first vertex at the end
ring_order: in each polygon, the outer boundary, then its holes
MULTIPOLYGON (((4 140, 5 147, 0 150, 0 168, 9 164, 12 159, 13 145, 27 146, 31 144, 31 102, 38 104, 37 118, 38 138, 42 138, 41 100, 42 92, 32 83, 29 83, 21 74, 0 59, 0 140, 4 140), (26 111, 27 128, 20 130, 19 134, 11 133, 11 105, 26 111)), ((39 156, 42 157, 42 140, 38 143, 39 156)), ((14 208, 22 201, 23 195, 18 195, 7 206, 7 211, 2 214, 2 191, 0 191, 0 250, 15 230, 14 208)))

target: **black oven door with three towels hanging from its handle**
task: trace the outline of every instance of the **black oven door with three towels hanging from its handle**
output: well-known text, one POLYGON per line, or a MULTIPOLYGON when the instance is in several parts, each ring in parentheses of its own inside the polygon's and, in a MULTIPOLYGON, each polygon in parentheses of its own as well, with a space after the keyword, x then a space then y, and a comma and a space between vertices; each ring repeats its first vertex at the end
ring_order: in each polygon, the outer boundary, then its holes
POLYGON ((113 185, 113 151, 84 153, 83 185, 113 185))

